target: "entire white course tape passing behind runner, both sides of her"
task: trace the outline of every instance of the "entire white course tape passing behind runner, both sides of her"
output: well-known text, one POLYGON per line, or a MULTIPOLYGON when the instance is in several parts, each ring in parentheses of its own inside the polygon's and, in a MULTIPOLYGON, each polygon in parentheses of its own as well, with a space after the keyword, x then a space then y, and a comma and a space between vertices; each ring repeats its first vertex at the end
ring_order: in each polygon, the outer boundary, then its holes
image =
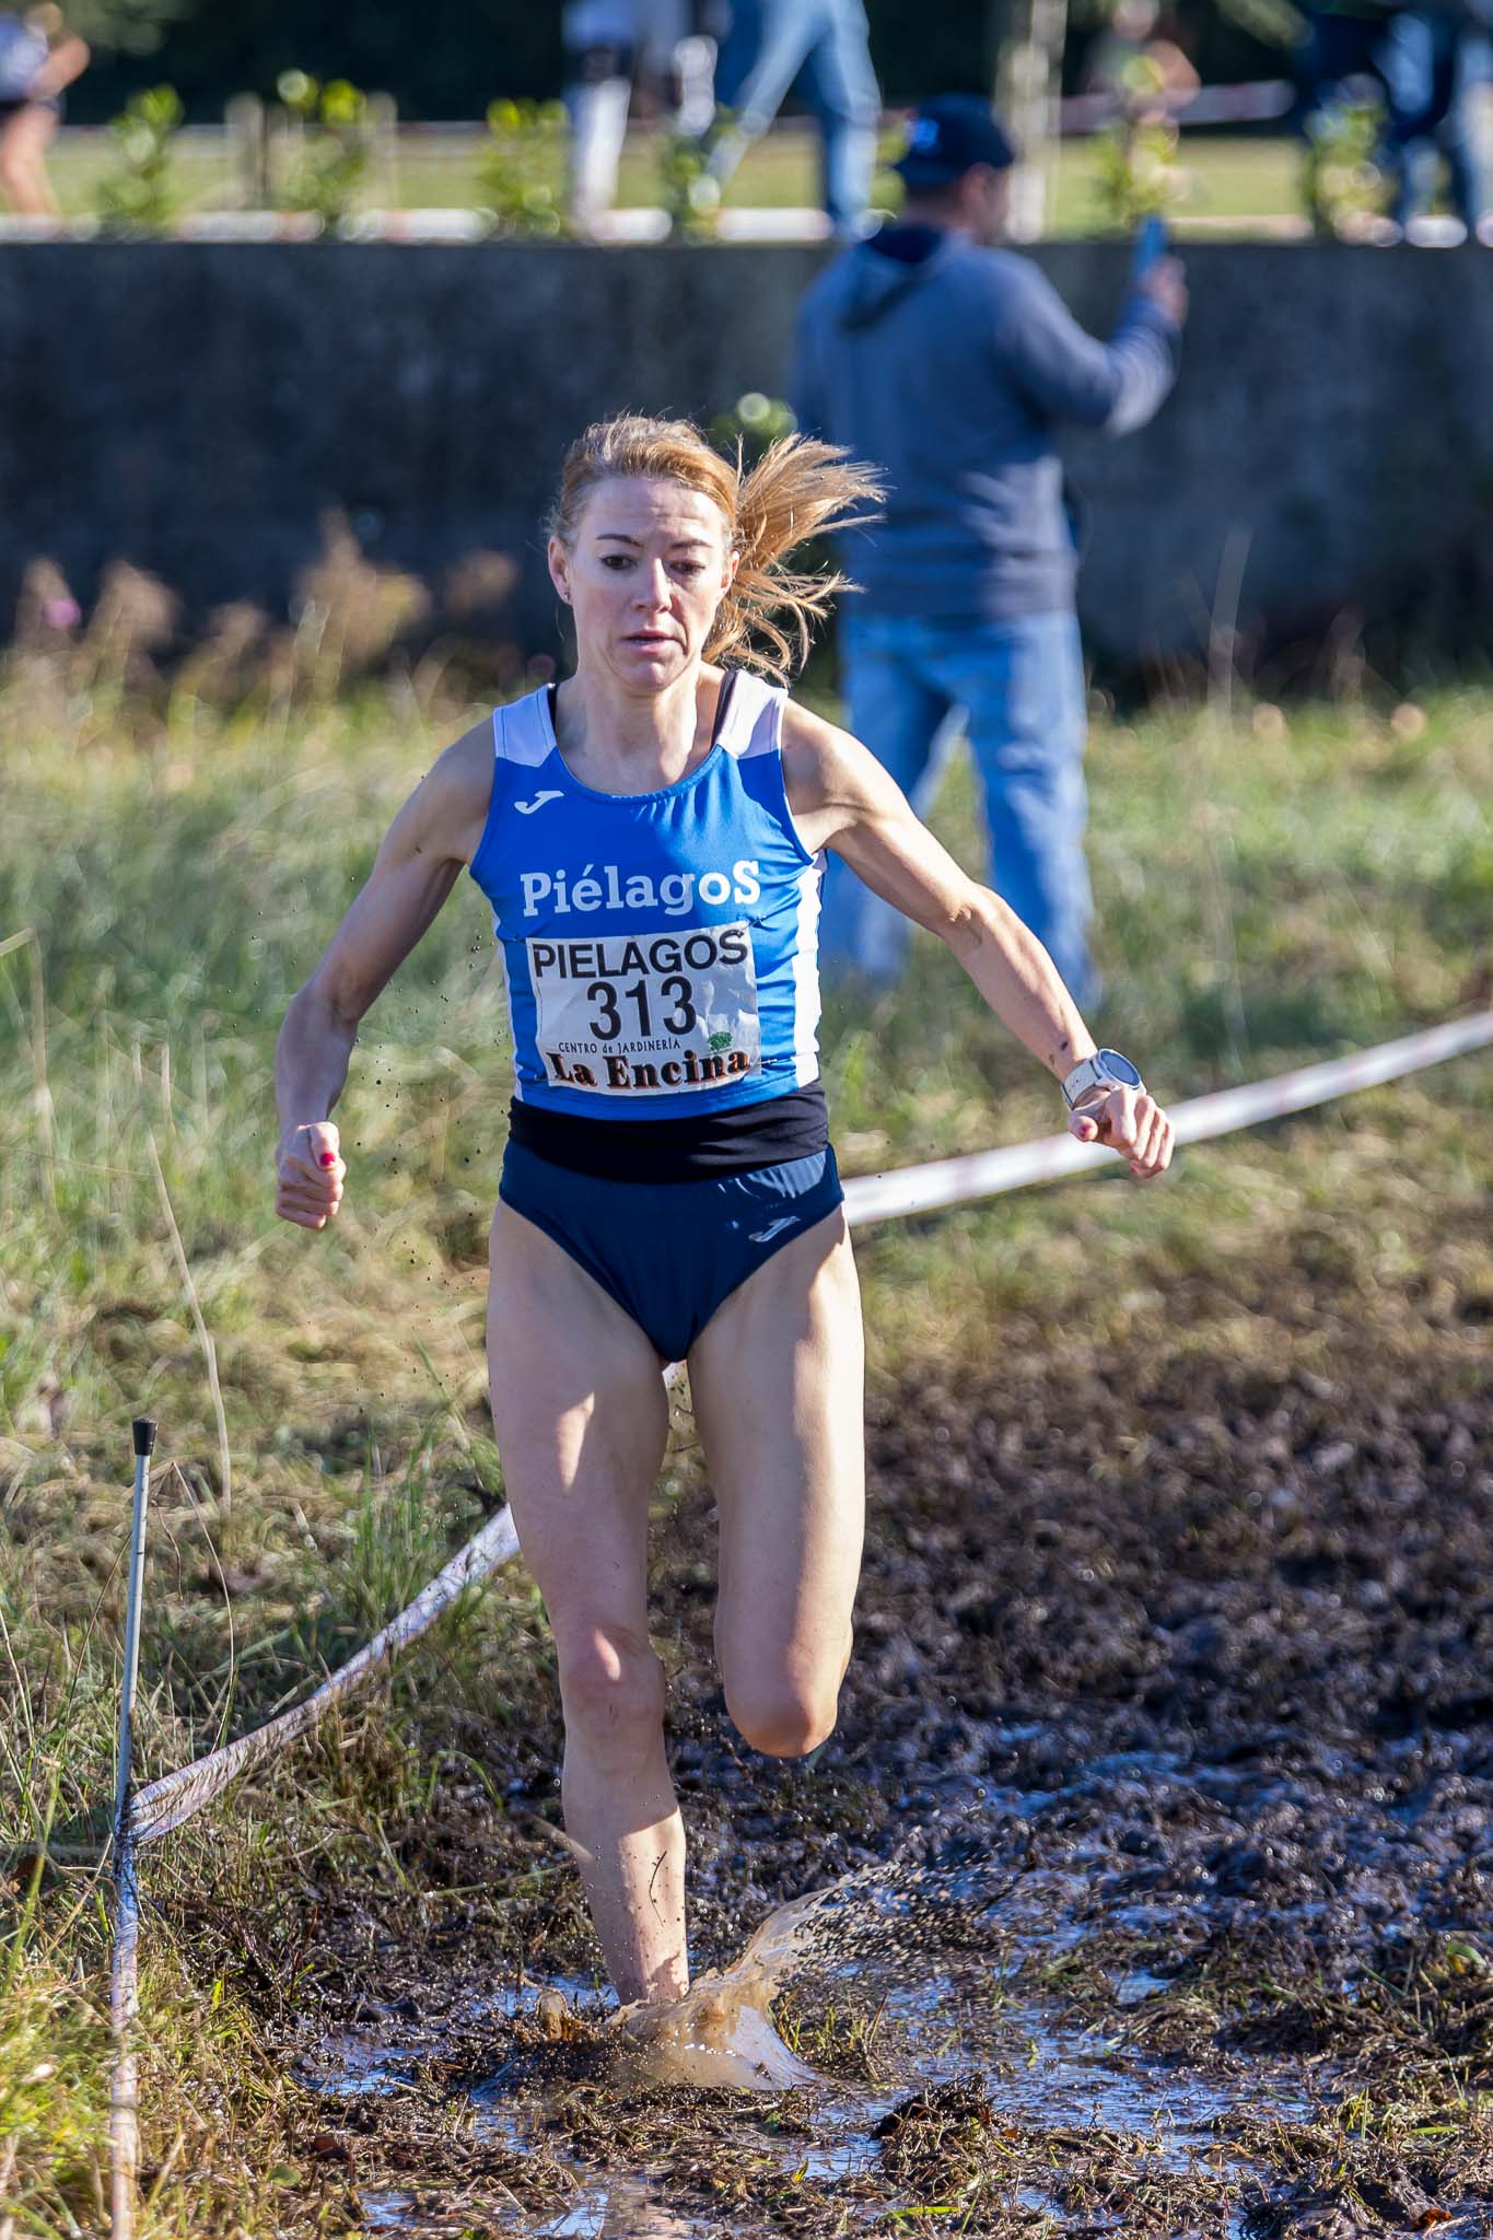
MULTIPOLYGON (((1453 1019, 1448 1026, 1406 1035, 1401 1042, 1381 1042, 1352 1057, 1332 1057, 1321 1066, 1278 1073, 1269 1082, 1220 1089, 1209 1098, 1189 1098, 1168 1111, 1177 1124, 1177 1142, 1204 1142, 1209 1136, 1227 1136, 1258 1120, 1278 1120, 1283 1113, 1305 1111, 1309 1104, 1327 1104, 1350 1089, 1372 1089, 1379 1082, 1419 1073, 1424 1066, 1477 1051, 1489 1042, 1493 1042, 1493 1010, 1482 1010, 1471 1019, 1453 1019)), ((1025 1183, 1054 1183, 1063 1174, 1112 1163, 1112 1151, 1083 1145, 1074 1136, 1048 1136, 1043 1142, 1016 1142, 1005 1151, 976 1151, 969 1158, 940 1158, 929 1167, 904 1167, 900 1174, 857 1176, 846 1183, 846 1216, 857 1228, 864 1221, 924 1214, 936 1205, 989 1198, 1003 1189, 1021 1189, 1025 1183)), ((264 1758, 316 1727, 329 1705, 351 1696, 396 1651, 419 1640, 466 1586, 479 1586, 517 1552, 519 1537, 513 1516, 508 1510, 499 1510, 436 1572, 410 1608, 389 1620, 383 1633, 376 1633, 367 1649, 349 1658, 313 1696, 291 1705, 289 1711, 253 1734, 244 1734, 237 1743, 215 1749, 210 1758, 184 1765, 139 1790, 132 1808, 137 1841, 150 1844, 179 1828, 215 1796, 222 1796, 228 1783, 248 1772, 251 1765, 262 1765, 264 1758)))

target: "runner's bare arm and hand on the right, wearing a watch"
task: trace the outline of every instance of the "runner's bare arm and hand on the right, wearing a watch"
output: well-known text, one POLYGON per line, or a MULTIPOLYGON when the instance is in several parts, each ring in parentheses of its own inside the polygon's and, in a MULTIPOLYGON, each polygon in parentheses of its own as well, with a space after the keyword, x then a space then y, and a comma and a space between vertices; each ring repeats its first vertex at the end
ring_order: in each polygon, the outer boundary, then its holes
MULTIPOLYGON (((804 844, 833 849, 873 894, 938 934, 1048 1073, 1063 1082, 1092 1057, 1095 1037, 1036 934, 956 865, 860 739, 790 706, 783 777, 804 844)), ((1162 1174, 1171 1163, 1171 1120, 1146 1093, 1115 1089, 1070 1113, 1068 1124, 1081 1142, 1119 1151, 1137 1176, 1162 1174)))

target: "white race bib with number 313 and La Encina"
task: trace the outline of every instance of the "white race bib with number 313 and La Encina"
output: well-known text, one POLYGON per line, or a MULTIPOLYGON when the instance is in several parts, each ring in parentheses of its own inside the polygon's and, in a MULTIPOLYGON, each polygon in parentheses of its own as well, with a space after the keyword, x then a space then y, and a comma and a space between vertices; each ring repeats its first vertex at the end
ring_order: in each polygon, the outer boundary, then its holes
POLYGON ((539 1062, 555 1089, 687 1095, 761 1071, 745 923, 526 950, 539 1062))

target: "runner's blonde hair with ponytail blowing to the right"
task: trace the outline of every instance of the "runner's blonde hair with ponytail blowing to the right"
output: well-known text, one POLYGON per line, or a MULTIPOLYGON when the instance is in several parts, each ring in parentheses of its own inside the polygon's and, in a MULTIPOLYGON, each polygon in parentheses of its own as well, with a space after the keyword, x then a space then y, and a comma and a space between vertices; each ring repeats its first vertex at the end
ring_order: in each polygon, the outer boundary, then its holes
POLYGON ((721 600, 705 659, 730 659, 779 683, 801 668, 813 625, 848 578, 806 573, 788 567, 788 558, 810 538, 864 522, 882 495, 875 470, 833 444, 797 435, 781 437, 745 468, 741 446, 734 461, 723 459, 689 421, 622 412, 571 444, 546 524, 551 535, 571 544, 586 497, 616 475, 678 482, 712 497, 725 515, 736 580, 721 600))

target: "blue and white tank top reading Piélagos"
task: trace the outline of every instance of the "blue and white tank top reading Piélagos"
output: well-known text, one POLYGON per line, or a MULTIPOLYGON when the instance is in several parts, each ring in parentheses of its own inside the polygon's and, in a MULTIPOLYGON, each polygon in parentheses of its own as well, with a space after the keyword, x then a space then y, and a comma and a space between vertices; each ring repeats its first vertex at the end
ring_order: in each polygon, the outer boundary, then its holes
POLYGON ((698 768, 571 777, 548 692, 492 715, 472 878, 492 905, 515 1095, 607 1120, 721 1113, 819 1077, 819 885, 783 791, 788 694, 734 670, 698 768))

